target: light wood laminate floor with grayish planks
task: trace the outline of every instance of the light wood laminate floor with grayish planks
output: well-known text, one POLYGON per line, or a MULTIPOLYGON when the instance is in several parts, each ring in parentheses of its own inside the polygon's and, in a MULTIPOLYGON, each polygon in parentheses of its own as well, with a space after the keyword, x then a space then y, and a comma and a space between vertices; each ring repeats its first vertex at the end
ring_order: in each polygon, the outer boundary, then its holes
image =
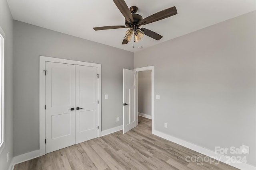
MULTIPOLYGON (((187 162, 198 152, 151 134, 151 120, 138 117, 138 126, 92 139, 16 164, 14 170, 235 170, 217 161, 187 162)), ((205 159, 207 160, 207 159, 205 159)), ((237 170, 237 169, 236 169, 237 170)))

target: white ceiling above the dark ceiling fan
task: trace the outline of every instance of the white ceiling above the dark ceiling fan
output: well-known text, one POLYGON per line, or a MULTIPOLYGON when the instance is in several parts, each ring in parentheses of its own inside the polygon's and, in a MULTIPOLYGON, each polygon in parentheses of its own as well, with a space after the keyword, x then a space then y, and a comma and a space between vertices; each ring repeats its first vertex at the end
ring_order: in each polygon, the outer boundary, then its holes
POLYGON ((124 25, 124 16, 112 0, 8 0, 14 20, 52 29, 83 39, 127 51, 138 51, 215 23, 256 10, 255 0, 126 0, 128 7, 137 6, 146 18, 176 6, 178 14, 142 25, 163 36, 156 41, 144 36, 142 41, 122 45, 127 28, 94 31, 93 27, 124 25))

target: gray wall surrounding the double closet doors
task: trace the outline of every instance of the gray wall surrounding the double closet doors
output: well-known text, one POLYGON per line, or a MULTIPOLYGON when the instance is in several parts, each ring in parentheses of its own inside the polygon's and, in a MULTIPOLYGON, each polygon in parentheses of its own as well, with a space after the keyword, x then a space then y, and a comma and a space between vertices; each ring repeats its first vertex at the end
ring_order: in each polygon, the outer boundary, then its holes
POLYGON ((40 55, 102 64, 102 130, 122 125, 122 68, 133 69, 132 52, 14 21, 15 156, 39 149, 40 55))

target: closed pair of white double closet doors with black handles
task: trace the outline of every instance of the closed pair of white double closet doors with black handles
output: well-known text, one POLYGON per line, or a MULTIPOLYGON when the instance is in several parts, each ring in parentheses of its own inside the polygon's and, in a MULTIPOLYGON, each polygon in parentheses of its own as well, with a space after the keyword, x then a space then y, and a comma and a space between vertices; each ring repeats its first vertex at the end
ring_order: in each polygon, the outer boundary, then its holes
POLYGON ((46 62, 46 153, 98 137, 98 68, 46 62))

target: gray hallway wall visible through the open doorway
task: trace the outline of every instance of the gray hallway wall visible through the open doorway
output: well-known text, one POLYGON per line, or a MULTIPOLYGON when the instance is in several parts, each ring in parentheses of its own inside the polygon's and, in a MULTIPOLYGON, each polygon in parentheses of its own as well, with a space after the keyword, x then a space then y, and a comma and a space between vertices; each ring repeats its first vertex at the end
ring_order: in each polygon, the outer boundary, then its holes
POLYGON ((151 116, 151 70, 138 72, 138 112, 151 116))

